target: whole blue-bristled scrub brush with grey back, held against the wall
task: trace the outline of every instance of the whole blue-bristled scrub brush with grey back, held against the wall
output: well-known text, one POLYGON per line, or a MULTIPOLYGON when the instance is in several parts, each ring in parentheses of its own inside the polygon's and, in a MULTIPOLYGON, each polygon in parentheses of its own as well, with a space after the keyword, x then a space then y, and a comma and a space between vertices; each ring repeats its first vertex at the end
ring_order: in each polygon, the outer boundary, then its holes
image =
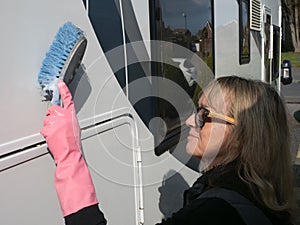
POLYGON ((59 28, 38 75, 41 95, 45 101, 51 101, 55 105, 61 104, 57 82, 59 79, 64 80, 66 84, 72 81, 81 64, 86 45, 87 39, 83 31, 71 22, 59 28))

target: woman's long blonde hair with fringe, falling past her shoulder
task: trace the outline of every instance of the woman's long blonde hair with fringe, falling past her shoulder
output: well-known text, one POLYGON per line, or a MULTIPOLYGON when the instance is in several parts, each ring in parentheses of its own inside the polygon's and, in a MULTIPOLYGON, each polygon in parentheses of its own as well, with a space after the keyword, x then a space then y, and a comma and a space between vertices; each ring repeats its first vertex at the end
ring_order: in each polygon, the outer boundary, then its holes
POLYGON ((210 87, 208 103, 224 97, 235 119, 221 147, 225 162, 237 161, 240 178, 257 200, 273 211, 294 206, 290 133, 285 105, 269 84, 240 77, 221 77, 210 87))

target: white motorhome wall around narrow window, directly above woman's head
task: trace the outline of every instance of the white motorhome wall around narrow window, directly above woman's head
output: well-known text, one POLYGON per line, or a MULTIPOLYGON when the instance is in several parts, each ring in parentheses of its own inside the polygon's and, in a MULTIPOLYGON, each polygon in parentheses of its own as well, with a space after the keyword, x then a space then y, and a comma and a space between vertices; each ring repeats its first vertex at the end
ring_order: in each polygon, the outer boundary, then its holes
POLYGON ((261 55, 252 35, 250 62, 243 65, 239 64, 238 2, 217 0, 214 3, 214 8, 216 77, 237 75, 261 79, 261 55))

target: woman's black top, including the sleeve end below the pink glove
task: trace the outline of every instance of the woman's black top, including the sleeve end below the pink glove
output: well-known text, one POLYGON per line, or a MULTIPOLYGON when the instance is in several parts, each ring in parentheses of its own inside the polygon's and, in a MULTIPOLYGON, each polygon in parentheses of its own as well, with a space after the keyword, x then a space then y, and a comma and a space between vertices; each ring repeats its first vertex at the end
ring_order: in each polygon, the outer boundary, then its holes
MULTIPOLYGON (((171 218, 163 220, 157 225, 245 225, 237 210, 225 200, 198 198, 200 194, 212 187, 222 187, 238 192, 259 207, 274 225, 290 224, 288 213, 274 213, 263 207, 256 200, 248 185, 238 177, 236 171, 235 163, 231 163, 226 167, 217 167, 203 174, 190 189, 185 191, 185 206, 174 213, 171 218), (221 176, 214 181, 212 177, 216 173, 221 176)), ((87 207, 67 216, 65 222, 66 225, 106 224, 98 205, 87 207)))

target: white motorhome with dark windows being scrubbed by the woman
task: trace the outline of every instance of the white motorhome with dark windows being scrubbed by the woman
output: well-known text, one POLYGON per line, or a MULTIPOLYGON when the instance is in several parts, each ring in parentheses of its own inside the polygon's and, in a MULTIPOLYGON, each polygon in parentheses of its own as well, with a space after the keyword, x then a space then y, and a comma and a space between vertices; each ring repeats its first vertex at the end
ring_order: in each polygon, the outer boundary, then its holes
POLYGON ((63 224, 37 74, 67 21, 88 40, 69 88, 108 224, 155 224, 182 206, 203 167, 184 121, 211 79, 280 91, 279 0, 10 0, 0 11, 3 225, 63 224))

